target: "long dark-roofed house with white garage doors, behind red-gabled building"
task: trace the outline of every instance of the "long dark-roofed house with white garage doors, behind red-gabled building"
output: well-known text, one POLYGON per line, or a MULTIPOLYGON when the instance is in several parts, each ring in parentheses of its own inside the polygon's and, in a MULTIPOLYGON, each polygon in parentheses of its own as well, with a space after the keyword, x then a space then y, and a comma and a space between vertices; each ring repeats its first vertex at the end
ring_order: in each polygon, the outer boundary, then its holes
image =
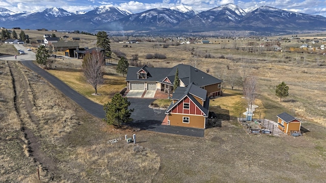
POLYGON ((180 87, 194 83, 206 89, 207 96, 209 97, 221 95, 222 80, 184 64, 179 64, 173 68, 129 67, 126 77, 128 89, 160 90, 162 92, 172 93, 177 68, 180 87))

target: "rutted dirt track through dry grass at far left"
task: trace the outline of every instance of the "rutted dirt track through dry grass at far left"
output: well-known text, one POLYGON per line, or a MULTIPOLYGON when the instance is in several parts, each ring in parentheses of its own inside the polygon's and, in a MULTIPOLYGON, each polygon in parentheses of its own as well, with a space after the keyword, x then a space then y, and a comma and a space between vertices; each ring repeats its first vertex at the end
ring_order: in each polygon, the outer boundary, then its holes
MULTIPOLYGON (((23 71, 18 67, 20 63, 15 61, 8 62, 10 73, 14 85, 14 103, 15 110, 17 111, 20 121, 22 123, 22 130, 25 133, 26 139, 29 141, 30 156, 34 157, 34 161, 42 164, 51 174, 55 174, 58 170, 55 160, 48 157, 41 149, 39 137, 35 136, 33 131, 27 128, 26 123, 32 123, 36 126, 39 125, 39 119, 33 114, 33 103, 29 99, 29 90, 31 90, 28 78, 25 77, 23 71), (28 116, 23 115, 27 113, 28 116), (26 119, 28 117, 28 119, 26 119)), ((52 177, 53 179, 54 177, 52 177)))

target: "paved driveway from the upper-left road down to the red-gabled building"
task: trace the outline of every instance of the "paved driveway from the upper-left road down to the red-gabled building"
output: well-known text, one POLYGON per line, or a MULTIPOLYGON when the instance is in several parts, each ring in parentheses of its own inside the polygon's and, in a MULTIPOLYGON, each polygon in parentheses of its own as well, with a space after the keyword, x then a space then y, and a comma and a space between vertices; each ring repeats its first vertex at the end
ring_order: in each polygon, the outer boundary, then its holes
MULTIPOLYGON (((17 49, 27 50, 22 45, 15 45, 17 49)), ((36 66, 31 60, 35 60, 35 53, 32 51, 28 51, 29 54, 21 55, 21 57, 17 56, 17 60, 20 60, 21 63, 36 72, 44 79, 46 79, 53 86, 61 90, 61 92, 76 102, 80 107, 89 112, 90 114, 98 117, 104 118, 105 112, 103 110, 103 106, 88 98, 80 95, 75 90, 70 88, 67 84, 59 80, 57 77, 49 74, 45 70, 36 66), (24 56, 24 57, 23 57, 24 56)), ((1 57, 0 59, 7 60, 15 60, 14 56, 1 57)), ((154 101, 154 99, 138 99, 138 98, 129 98, 131 105, 130 108, 133 108, 134 111, 131 115, 131 118, 134 120, 130 124, 131 127, 141 128, 142 130, 154 131, 154 132, 162 132, 162 133, 171 133, 178 135, 186 135, 186 136, 195 136, 195 137, 204 137, 203 129, 193 129, 193 128, 185 128, 185 127, 173 127, 167 125, 160 125, 162 120, 165 117, 165 110, 160 109, 152 109, 149 108, 149 104, 154 101)))

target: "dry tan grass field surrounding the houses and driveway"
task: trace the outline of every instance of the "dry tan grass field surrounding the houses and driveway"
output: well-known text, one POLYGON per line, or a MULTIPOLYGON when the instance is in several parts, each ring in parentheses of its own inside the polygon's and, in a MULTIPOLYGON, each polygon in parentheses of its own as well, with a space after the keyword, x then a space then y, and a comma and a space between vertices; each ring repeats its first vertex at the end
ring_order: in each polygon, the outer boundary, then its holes
MULTIPOLYGON (((31 37, 32 33, 28 34, 31 37)), ((86 38, 91 43, 96 39, 86 38)), ((232 49, 232 40, 221 46, 224 42, 228 40, 168 48, 159 46, 163 43, 132 44, 128 48, 112 43, 111 47, 129 59, 138 54, 139 62, 155 67, 183 63, 214 76, 221 70, 250 73, 259 83, 256 114, 275 120, 283 111, 295 113, 303 119, 308 133, 301 137, 248 135, 234 120, 247 105, 241 98, 241 87, 231 90, 229 82, 225 96, 210 102, 210 109, 222 119, 222 127, 206 129, 204 138, 116 130, 21 64, 0 60, 0 182, 323 182, 325 57, 319 55, 323 62, 317 66, 317 54, 248 53, 232 49), (167 58, 146 59, 147 53, 165 54, 167 58), (200 56, 206 53, 214 57, 200 56), (274 90, 282 81, 290 87, 290 96, 280 103, 274 90), (138 143, 127 144, 125 134, 136 134, 138 143), (117 142, 112 144, 113 139, 117 142)), ((0 53, 10 51, 0 47, 0 53)), ((57 69, 50 73, 91 96, 94 90, 80 74, 81 60, 56 59, 55 64, 57 69)), ((90 97, 101 104, 125 86, 114 66, 107 66, 106 73, 106 83, 99 89, 103 95, 90 97)), ((158 103, 165 105, 165 101, 158 103)))

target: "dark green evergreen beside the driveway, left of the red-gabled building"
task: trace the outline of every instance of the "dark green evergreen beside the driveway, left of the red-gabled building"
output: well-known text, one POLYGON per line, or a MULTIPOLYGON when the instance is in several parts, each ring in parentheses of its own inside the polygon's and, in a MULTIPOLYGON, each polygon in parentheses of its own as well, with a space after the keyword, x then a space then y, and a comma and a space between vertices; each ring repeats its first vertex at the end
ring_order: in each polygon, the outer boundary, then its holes
POLYGON ((133 109, 128 109, 130 102, 127 98, 122 97, 120 94, 115 94, 111 102, 107 102, 103 106, 105 111, 105 118, 103 119, 109 125, 120 127, 123 123, 131 122, 130 118, 133 109))

